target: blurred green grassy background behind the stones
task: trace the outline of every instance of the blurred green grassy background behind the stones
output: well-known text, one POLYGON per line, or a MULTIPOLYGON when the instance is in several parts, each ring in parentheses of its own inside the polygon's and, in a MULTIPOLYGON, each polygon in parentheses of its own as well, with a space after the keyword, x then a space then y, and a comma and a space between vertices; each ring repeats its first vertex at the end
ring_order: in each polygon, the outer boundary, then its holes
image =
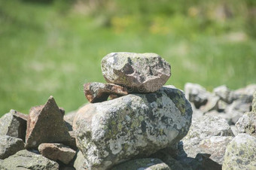
POLYGON ((160 54, 180 89, 256 83, 255 16, 255 0, 0 0, 0 116, 50 95, 77 109, 117 51, 160 54))

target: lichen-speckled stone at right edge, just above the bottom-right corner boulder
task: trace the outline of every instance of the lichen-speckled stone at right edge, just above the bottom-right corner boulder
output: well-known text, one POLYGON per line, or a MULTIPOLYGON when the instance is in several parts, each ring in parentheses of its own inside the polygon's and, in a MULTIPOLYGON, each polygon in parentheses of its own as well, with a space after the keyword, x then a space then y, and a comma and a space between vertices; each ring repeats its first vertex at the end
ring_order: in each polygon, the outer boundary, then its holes
POLYGON ((256 113, 247 112, 236 122, 236 129, 239 133, 247 133, 256 138, 256 113))

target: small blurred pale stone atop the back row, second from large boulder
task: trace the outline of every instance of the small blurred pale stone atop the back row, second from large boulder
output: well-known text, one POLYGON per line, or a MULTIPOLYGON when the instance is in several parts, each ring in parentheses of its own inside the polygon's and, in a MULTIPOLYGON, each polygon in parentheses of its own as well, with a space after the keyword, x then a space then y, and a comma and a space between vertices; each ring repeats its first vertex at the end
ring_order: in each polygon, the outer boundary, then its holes
POLYGON ((227 102, 228 104, 232 103, 234 100, 233 92, 226 87, 226 85, 216 87, 213 90, 215 96, 219 96, 221 100, 227 102))

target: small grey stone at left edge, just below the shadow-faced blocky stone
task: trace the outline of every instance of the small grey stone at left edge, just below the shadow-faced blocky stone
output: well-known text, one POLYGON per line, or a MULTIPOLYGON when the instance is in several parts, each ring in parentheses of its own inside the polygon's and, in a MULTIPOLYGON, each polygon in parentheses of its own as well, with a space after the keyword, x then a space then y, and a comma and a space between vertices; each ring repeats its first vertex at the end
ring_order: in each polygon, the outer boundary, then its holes
POLYGON ((23 149, 25 149, 25 147, 22 139, 8 135, 0 135, 0 159, 8 158, 8 156, 23 149))

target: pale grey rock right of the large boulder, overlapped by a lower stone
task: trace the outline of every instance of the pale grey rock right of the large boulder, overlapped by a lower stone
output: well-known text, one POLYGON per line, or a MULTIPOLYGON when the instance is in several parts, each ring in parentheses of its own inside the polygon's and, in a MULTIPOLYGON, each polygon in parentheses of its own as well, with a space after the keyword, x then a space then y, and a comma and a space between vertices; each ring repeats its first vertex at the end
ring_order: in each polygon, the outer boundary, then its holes
POLYGON ((207 115, 192 120, 189 132, 180 144, 187 156, 195 157, 201 153, 200 142, 211 136, 233 136, 233 132, 223 118, 207 115))

